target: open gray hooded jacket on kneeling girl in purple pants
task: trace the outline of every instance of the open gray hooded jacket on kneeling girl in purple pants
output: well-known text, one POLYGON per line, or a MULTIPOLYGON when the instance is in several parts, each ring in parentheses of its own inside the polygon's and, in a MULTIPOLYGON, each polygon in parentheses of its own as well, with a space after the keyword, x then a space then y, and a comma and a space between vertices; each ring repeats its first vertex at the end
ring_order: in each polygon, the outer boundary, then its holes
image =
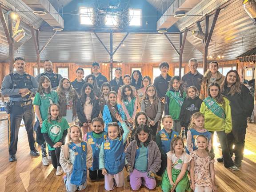
MULTIPOLYGON (((134 168, 136 156, 137 141, 133 140, 126 149, 125 157, 128 164, 125 166, 132 166, 134 168)), ((155 141, 150 141, 148 144, 148 168, 147 172, 152 171, 156 173, 161 167, 161 153, 155 141)))

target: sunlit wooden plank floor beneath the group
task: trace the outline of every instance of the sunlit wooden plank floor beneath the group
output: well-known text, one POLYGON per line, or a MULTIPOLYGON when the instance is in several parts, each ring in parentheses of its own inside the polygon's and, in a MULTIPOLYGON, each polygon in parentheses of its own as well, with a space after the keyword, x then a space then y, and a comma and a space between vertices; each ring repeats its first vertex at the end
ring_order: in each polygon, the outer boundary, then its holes
MULTIPOLYGON (((17 161, 8 161, 7 121, 0 122, 0 192, 64 192, 62 176, 56 176, 56 170, 43 166, 42 157, 29 155, 28 138, 24 127, 20 128, 17 161)), ((245 155, 239 172, 224 168, 223 164, 215 163, 216 185, 218 192, 256 192, 256 125, 248 124, 245 155)), ((38 148, 39 150, 39 148, 38 148)), ((215 148, 216 157, 220 156, 220 149, 215 148)), ((125 172, 125 177, 127 173, 125 172)), ((88 181, 84 191, 103 192, 104 180, 88 181)), ((125 179, 123 188, 115 188, 114 192, 131 192, 129 183, 125 179)), ((141 192, 161 192, 160 187, 148 190, 142 187, 141 192)))

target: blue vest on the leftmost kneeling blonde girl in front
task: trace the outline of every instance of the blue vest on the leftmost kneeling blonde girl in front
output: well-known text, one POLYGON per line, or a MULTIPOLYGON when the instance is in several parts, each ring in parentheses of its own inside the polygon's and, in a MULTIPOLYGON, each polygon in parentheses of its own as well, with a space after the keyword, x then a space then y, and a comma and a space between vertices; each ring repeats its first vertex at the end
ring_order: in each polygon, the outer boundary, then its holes
POLYGON ((85 142, 81 142, 81 147, 71 143, 68 146, 72 151, 75 152, 76 158, 73 164, 73 171, 71 174, 70 183, 74 185, 81 185, 86 182, 87 179, 87 167, 86 167, 86 156, 87 146, 85 142))

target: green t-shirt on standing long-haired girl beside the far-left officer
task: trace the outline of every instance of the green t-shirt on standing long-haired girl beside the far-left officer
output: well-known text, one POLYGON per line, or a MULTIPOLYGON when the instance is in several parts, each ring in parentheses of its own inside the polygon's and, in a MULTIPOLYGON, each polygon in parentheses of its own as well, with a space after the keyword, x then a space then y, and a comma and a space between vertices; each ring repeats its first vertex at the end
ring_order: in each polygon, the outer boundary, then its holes
POLYGON ((51 91, 50 93, 43 93, 41 95, 39 92, 37 92, 33 104, 39 105, 42 120, 46 120, 50 104, 57 104, 58 101, 59 97, 56 91, 51 91))

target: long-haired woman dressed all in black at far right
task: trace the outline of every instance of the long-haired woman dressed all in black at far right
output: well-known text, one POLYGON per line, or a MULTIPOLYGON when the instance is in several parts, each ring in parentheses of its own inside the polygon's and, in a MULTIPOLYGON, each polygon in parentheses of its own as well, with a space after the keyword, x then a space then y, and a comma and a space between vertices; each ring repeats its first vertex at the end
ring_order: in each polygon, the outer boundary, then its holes
MULTIPOLYGON (((228 98, 231 106, 232 131, 227 135, 229 152, 235 153, 234 163, 241 167, 244 152, 244 140, 247 128, 247 117, 253 110, 253 99, 249 89, 241 83, 236 70, 230 70, 221 86, 221 92, 228 98), (233 144, 235 148, 233 149, 233 144)), ((223 162, 223 158, 217 159, 223 162)))

